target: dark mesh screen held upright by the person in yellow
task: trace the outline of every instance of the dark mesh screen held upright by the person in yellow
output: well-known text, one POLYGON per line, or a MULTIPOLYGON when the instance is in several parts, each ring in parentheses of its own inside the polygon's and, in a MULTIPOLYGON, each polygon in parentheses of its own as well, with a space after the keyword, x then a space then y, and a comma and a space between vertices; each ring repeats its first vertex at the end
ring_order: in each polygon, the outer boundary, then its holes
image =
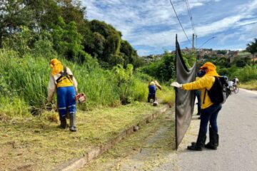
MULTIPOLYGON (((176 38, 176 81, 189 83, 196 79, 196 63, 188 69, 183 61, 181 50, 176 38)), ((193 114, 195 91, 176 89, 176 149, 188 129, 193 114)))

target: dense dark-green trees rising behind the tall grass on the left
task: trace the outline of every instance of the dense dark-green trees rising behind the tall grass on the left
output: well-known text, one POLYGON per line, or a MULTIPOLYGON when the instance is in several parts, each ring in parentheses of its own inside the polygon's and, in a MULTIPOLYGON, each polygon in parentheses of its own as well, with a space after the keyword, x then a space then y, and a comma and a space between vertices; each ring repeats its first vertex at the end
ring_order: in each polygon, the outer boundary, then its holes
POLYGON ((104 21, 88 21, 80 1, 11 0, 1 1, 0 9, 0 46, 20 56, 40 48, 70 61, 89 61, 91 55, 105 68, 142 63, 120 31, 104 21))

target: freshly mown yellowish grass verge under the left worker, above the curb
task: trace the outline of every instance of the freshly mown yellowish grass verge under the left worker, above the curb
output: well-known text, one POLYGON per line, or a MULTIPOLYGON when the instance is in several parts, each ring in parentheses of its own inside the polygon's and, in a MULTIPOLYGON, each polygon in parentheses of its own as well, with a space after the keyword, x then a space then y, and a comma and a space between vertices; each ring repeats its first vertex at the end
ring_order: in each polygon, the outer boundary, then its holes
MULTIPOLYGON (((0 168, 3 170, 53 170, 66 160, 80 157, 90 147, 104 144, 122 130, 136 125, 159 108, 134 103, 104 108, 76 116, 78 132, 57 128, 44 115, 0 123, 0 168)), ((54 115, 54 113, 50 113, 54 115)), ((53 117, 54 118, 54 117, 53 117)), ((69 121, 69 120, 68 120, 69 121)))

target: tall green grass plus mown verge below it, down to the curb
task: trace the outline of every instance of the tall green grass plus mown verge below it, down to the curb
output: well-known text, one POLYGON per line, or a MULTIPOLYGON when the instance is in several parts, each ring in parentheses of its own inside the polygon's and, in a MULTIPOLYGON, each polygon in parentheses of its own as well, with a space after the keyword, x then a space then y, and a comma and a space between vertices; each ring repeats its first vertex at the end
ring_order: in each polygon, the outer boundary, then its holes
MULTIPOLYGON (((86 150, 104 144, 128 127, 155 113, 146 101, 148 83, 135 76, 126 91, 130 105, 121 105, 121 88, 112 71, 91 63, 61 61, 74 71, 87 102, 78 105, 77 133, 56 128, 58 113, 45 112, 49 60, 56 56, 0 51, 0 168, 51 170, 86 150), (95 65, 95 66, 94 66, 95 65), (115 107, 115 108, 114 108, 115 107), (86 111, 83 111, 86 110, 86 111), (36 115, 32 116, 31 113, 36 115)), ((163 86, 157 98, 173 103, 173 89, 163 86)), ((56 103, 56 101, 54 101, 56 103)))

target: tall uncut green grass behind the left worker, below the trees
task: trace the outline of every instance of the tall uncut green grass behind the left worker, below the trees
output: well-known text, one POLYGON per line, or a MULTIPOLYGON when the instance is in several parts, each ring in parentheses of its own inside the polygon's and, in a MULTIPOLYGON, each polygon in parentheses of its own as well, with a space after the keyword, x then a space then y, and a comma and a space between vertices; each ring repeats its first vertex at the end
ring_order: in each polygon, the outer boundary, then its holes
MULTIPOLYGON (((52 56, 56 58, 56 56, 52 56)), ((44 109, 47 98, 47 87, 49 82, 50 57, 44 57, 33 53, 26 53, 22 58, 11 50, 0 51, 0 95, 1 100, 6 100, 5 106, 14 111, 17 106, 24 106, 14 115, 25 115, 28 109, 32 113, 38 113, 44 109), (16 100, 11 100, 15 97, 16 100), (13 107, 11 107, 13 106, 13 107)), ((59 60, 73 71, 79 83, 79 92, 86 93, 87 102, 78 105, 82 110, 91 110, 104 106, 121 105, 119 88, 112 71, 104 70, 98 66, 96 61, 87 61, 78 64, 67 61, 65 58, 59 60)), ((129 101, 146 101, 148 88, 147 81, 133 77, 129 87, 129 101)), ((54 100, 56 103, 56 100, 54 100)), ((1 115, 12 115, 6 112, 6 108, 0 108, 1 115), (3 114, 5 113, 5 114, 3 114)))

